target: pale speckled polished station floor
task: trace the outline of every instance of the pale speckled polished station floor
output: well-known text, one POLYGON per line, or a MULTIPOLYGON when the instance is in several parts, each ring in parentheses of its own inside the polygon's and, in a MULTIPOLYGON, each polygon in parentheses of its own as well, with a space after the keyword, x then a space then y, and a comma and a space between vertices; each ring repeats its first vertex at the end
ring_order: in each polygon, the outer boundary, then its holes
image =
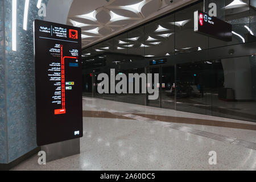
MULTIPOLYGON (((104 111, 109 118, 84 117, 81 154, 39 166, 37 155, 13 170, 256 170, 256 151, 216 139, 166 127, 168 122, 111 118, 113 115, 155 114, 233 123, 256 123, 184 113, 170 109, 84 98, 84 110, 104 111), (129 112, 127 112, 129 111, 129 112), (209 165, 210 151, 216 151, 217 164, 209 165)), ((228 127, 175 123, 191 129, 256 142, 256 131, 228 127)))

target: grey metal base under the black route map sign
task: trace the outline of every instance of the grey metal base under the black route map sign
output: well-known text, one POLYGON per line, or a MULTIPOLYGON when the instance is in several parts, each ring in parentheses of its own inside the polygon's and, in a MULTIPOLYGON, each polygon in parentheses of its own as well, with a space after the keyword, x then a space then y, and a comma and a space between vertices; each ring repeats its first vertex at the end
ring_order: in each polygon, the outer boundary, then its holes
POLYGON ((41 146, 46 152, 46 162, 80 154, 80 138, 41 146))

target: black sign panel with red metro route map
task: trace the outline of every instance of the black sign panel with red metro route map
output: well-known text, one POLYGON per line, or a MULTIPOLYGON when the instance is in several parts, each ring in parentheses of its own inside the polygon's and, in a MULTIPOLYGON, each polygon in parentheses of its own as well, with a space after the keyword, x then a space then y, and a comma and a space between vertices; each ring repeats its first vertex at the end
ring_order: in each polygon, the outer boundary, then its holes
POLYGON ((82 137, 81 28, 35 20, 38 146, 82 137))

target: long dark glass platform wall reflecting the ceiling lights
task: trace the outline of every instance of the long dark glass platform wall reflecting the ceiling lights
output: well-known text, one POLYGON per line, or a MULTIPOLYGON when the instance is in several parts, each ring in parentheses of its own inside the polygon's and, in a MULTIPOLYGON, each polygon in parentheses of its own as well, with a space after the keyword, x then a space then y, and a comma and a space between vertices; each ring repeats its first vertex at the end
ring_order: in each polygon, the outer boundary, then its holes
POLYGON ((84 49, 84 96, 91 92, 107 100, 256 122, 256 3, 232 2, 205 1, 205 12, 232 24, 232 42, 194 32, 193 13, 204 10, 199 1, 84 49), (166 63, 150 65, 159 59, 166 63), (142 93, 98 94, 97 76, 110 76, 110 69, 127 78, 129 73, 159 73, 158 99, 142 93))

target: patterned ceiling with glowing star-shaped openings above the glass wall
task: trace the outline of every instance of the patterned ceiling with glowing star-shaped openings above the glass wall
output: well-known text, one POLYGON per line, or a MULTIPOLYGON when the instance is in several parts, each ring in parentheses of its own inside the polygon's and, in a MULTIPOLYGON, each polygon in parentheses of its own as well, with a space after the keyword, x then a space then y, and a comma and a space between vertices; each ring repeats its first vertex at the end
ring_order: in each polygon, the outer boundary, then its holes
POLYGON ((129 24, 146 19, 164 7, 175 6, 181 2, 188 1, 171 3, 170 0, 74 0, 67 24, 81 27, 82 47, 86 47, 129 24))

